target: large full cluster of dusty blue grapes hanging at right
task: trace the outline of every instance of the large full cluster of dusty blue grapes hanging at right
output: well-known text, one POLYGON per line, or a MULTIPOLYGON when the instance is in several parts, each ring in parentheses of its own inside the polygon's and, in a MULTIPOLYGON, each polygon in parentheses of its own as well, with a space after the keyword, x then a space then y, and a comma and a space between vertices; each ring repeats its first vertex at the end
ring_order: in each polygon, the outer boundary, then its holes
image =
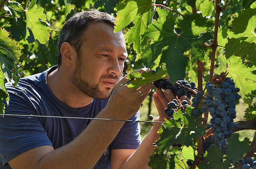
POLYGON ((235 106, 239 99, 239 88, 235 88, 235 83, 226 78, 224 83, 217 83, 215 86, 210 82, 206 83, 206 89, 208 94, 203 103, 212 116, 214 144, 226 153, 226 139, 231 137, 232 129, 236 126, 233 119, 236 118, 235 106))

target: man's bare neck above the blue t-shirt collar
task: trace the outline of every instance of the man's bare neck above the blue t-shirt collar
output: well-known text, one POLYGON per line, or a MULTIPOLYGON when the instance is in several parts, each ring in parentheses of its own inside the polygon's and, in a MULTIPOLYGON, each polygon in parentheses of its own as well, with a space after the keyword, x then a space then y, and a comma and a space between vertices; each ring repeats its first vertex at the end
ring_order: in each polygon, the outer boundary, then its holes
POLYGON ((75 87, 69 77, 67 71, 58 68, 47 75, 47 85, 53 94, 69 107, 82 108, 89 105, 93 98, 85 95, 75 87))

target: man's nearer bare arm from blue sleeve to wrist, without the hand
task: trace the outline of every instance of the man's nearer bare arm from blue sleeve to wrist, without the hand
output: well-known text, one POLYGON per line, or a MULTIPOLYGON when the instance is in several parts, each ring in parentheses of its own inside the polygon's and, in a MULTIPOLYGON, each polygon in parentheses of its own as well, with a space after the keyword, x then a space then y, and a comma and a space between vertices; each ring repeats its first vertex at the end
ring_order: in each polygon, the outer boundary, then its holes
MULTIPOLYGON (((96 118, 115 118, 103 109, 96 118)), ((33 148, 9 161, 12 168, 92 168, 124 124, 93 120, 69 144, 33 148), (104 127, 102 127, 104 126, 104 127)))

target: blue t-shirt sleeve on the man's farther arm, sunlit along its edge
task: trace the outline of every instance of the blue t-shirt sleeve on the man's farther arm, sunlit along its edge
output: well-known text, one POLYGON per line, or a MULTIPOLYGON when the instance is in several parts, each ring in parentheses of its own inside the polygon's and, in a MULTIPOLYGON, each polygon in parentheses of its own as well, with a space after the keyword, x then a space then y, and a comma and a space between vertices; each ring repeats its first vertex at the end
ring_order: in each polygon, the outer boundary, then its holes
MULTIPOLYGON (((140 111, 129 120, 140 120, 140 111)), ((112 141, 111 149, 137 149, 140 143, 139 122, 126 121, 112 141)))

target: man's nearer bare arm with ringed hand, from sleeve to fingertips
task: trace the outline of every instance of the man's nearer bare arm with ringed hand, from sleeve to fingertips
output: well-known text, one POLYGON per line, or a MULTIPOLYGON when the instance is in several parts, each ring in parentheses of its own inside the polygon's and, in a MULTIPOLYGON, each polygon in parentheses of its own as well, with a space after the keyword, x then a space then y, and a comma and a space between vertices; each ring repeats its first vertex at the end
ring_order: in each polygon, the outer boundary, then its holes
MULTIPOLYGON (((123 78, 116 84, 107 107, 95 118, 126 120, 139 110, 152 84, 140 87, 144 94, 141 96, 138 91, 121 85, 125 81, 126 79, 123 78)), ((51 146, 33 148, 21 153, 8 163, 12 168, 92 168, 123 124, 123 121, 93 120, 69 144, 55 150, 51 146)))

